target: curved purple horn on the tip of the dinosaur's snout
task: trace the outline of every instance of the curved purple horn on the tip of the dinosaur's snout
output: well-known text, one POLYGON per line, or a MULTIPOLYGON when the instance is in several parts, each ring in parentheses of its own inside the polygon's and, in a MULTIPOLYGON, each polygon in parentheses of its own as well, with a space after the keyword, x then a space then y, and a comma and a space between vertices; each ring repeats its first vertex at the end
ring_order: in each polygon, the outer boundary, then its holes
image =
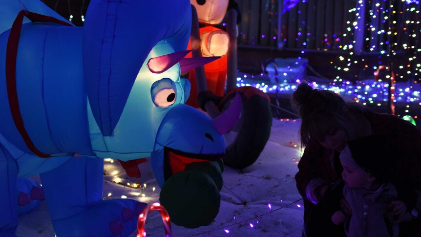
POLYGON ((240 117, 242 104, 241 95, 236 93, 230 107, 212 120, 217 132, 225 134, 234 127, 240 117))

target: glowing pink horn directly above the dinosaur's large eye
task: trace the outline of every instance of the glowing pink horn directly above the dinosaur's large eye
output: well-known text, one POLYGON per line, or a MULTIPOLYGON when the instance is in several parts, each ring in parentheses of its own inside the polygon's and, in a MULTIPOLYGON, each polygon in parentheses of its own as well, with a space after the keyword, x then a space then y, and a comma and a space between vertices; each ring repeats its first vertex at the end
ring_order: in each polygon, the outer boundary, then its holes
POLYGON ((162 73, 168 70, 171 66, 177 64, 190 52, 191 50, 175 52, 149 59, 147 67, 152 73, 162 73))

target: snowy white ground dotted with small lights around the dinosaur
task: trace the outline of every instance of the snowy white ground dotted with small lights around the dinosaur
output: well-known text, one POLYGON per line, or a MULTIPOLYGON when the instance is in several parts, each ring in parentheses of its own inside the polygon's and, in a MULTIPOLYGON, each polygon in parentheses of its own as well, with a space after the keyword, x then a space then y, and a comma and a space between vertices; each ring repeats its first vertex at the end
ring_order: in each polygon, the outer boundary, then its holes
MULTIPOLYGON (((300 157, 297 138, 299 125, 300 120, 274 119, 271 137, 258 160, 242 171, 225 168, 222 202, 215 221, 197 229, 172 224, 173 236, 301 236, 304 210, 294 180, 296 163, 300 157)), ((104 198, 125 195, 148 204, 158 201, 160 189, 153 179, 148 163, 143 163, 140 167, 142 178, 129 180, 118 162, 106 159, 104 198), (133 188, 133 184, 139 187, 133 188)), ((146 231, 149 237, 165 236, 162 220, 157 212, 148 215, 146 231)), ((17 235, 54 237, 45 202, 32 213, 20 216, 17 235)), ((136 233, 131 235, 135 236, 136 233)))

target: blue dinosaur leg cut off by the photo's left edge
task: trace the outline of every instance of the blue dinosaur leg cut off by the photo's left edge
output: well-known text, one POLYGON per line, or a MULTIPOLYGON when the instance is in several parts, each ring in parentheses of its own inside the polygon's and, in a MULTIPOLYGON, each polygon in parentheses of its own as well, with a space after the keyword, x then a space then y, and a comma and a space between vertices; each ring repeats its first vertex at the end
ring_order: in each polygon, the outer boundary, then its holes
POLYGON ((15 236, 18 226, 16 177, 18 163, 0 144, 0 236, 15 236))

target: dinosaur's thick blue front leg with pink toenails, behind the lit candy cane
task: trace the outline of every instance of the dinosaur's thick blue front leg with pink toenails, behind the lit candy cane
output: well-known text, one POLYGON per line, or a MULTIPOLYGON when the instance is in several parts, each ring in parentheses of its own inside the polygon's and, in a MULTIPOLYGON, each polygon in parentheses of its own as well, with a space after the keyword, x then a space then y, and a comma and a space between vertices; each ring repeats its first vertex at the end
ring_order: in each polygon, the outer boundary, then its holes
POLYGON ((104 161, 74 157, 41 174, 54 231, 59 237, 128 236, 146 204, 102 200, 104 161))

